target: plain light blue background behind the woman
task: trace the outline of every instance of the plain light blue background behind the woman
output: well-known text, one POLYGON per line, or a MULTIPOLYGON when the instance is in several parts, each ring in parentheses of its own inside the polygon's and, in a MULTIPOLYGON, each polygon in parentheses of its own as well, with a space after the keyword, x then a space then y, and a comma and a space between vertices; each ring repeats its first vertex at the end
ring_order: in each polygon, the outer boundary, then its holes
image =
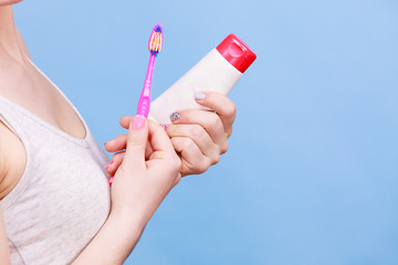
MULTIPOLYGON (((398 264, 398 2, 24 1, 34 62, 100 144, 124 129, 156 22, 154 97, 235 33, 230 150, 185 178, 125 264, 398 264)), ((109 242, 112 244, 112 242, 109 242)))

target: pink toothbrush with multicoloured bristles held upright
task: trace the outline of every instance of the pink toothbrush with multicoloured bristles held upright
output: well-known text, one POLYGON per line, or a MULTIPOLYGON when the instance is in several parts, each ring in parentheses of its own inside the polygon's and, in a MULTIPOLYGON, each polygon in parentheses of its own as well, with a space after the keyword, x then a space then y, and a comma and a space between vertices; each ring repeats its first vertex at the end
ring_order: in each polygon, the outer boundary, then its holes
POLYGON ((148 42, 148 50, 150 53, 149 64, 144 82, 143 92, 139 97, 138 107, 137 107, 137 115, 142 115, 146 118, 148 117, 149 107, 150 107, 150 87, 151 87, 151 77, 154 72, 155 59, 157 54, 160 52, 161 44, 163 44, 163 26, 160 23, 157 23, 154 26, 154 30, 151 31, 149 36, 149 42, 148 42))

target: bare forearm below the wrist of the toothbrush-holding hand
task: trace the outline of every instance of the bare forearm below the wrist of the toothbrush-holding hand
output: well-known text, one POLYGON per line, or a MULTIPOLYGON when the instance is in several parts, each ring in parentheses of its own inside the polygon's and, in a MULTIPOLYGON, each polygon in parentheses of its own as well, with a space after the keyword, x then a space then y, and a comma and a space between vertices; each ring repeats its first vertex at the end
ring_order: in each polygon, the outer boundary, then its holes
POLYGON ((130 213, 112 214, 73 265, 115 265, 123 262, 137 244, 147 221, 130 213))

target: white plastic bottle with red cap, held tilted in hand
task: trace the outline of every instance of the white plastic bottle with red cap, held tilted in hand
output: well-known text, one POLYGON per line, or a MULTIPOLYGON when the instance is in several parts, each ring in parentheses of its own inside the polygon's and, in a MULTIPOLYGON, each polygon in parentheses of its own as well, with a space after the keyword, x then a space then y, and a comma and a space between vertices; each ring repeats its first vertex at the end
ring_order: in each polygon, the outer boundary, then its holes
POLYGON ((234 34, 228 35, 150 104, 148 118, 167 125, 176 110, 207 109, 195 102, 195 93, 213 91, 228 95, 255 57, 244 42, 234 34))

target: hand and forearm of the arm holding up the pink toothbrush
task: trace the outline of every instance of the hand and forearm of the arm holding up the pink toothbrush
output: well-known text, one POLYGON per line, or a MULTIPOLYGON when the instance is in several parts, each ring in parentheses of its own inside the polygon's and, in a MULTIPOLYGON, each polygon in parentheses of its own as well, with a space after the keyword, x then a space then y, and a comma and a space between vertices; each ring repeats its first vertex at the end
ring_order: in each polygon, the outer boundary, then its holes
POLYGON ((129 118, 128 128, 124 160, 112 183, 111 214, 73 265, 123 264, 160 202, 181 178, 180 159, 160 126, 135 116, 129 118), (148 142, 151 152, 146 158, 148 142))

